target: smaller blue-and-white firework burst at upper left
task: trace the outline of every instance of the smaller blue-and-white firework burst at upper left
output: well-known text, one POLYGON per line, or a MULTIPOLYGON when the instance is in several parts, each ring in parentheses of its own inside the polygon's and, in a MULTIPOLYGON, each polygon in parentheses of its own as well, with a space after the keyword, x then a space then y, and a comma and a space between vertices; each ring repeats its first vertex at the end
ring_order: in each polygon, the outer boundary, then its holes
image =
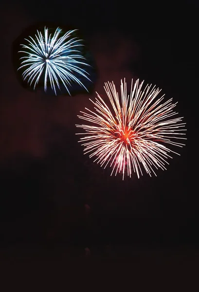
POLYGON ((75 31, 70 30, 63 34, 62 30, 57 28, 53 35, 49 35, 48 28, 45 27, 44 35, 37 30, 35 38, 25 39, 27 44, 22 44, 24 50, 19 51, 25 56, 20 58, 21 66, 18 70, 24 70, 22 78, 28 80, 30 86, 34 85, 34 90, 42 78, 44 78, 45 92, 48 82, 55 94, 57 88, 61 91, 60 83, 69 94, 72 83, 79 84, 87 90, 80 78, 91 81, 88 77, 89 73, 82 68, 90 65, 85 63, 86 58, 77 50, 78 47, 83 47, 83 44, 78 37, 72 37, 75 31))

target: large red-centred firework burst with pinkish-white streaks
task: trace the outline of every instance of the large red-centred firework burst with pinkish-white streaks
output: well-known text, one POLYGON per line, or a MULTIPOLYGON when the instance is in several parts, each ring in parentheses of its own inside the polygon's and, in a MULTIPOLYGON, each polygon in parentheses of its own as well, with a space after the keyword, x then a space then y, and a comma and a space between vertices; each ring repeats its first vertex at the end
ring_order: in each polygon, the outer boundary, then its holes
MULTIPOLYGON (((143 170, 151 176, 155 169, 166 169, 166 160, 172 158, 174 152, 168 145, 182 147, 177 141, 186 139, 181 117, 174 112, 176 104, 172 99, 163 102, 163 96, 157 98, 161 90, 136 80, 131 83, 130 94, 127 94, 127 83, 121 80, 121 98, 119 98, 114 83, 105 83, 105 91, 109 103, 106 103, 97 93, 94 110, 86 108, 87 112, 78 116, 87 121, 87 125, 76 125, 83 128, 84 137, 80 138, 84 151, 95 157, 97 163, 112 167, 115 175, 119 172, 131 177, 132 171, 138 178, 143 170)), ((178 154, 178 153, 176 153, 178 154)), ((178 154, 180 155, 180 154, 178 154)))

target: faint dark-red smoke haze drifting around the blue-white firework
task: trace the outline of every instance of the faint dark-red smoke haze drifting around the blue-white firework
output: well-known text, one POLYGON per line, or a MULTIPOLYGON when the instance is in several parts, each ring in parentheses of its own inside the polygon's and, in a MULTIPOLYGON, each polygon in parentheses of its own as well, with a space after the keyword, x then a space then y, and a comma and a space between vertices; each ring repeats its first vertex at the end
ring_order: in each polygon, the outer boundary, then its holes
MULTIPOLYGON (((15 152, 45 156, 48 151, 46 136, 51 136, 53 125, 58 124, 65 127, 66 131, 73 131, 77 121, 76 115, 85 107, 90 107, 89 98, 96 96, 93 92, 92 95, 49 97, 39 91, 30 92, 21 87, 13 69, 12 43, 34 20, 17 6, 4 10, 4 17, 0 20, 5 28, 2 40, 4 45, 0 46, 0 53, 3 55, 0 87, 0 159, 15 152)), ((139 48, 130 38, 117 32, 94 35, 90 40, 90 50, 99 73, 94 91, 102 97, 105 94, 104 82, 113 80, 120 86, 121 78, 126 77, 127 82, 130 82, 131 78, 135 77, 129 68, 129 60, 139 57, 139 48)))

